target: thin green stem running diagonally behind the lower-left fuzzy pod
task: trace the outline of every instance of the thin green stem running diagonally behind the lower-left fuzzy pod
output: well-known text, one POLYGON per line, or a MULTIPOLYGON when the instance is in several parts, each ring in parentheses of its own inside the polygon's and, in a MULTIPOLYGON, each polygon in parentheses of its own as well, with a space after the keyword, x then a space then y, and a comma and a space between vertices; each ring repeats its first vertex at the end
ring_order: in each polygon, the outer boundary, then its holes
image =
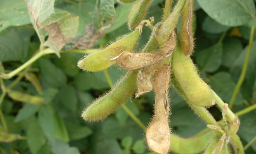
MULTIPOLYGON (((109 76, 109 73, 106 70, 104 70, 104 74, 105 74, 105 77, 107 78, 107 82, 109 84, 109 87, 113 87, 113 83, 111 81, 111 78, 109 76)), ((140 121, 139 118, 136 117, 135 114, 133 114, 133 112, 125 105, 125 104, 121 104, 121 107, 123 108, 123 110, 126 111, 126 113, 143 129, 143 130, 146 130, 146 126, 140 121)))

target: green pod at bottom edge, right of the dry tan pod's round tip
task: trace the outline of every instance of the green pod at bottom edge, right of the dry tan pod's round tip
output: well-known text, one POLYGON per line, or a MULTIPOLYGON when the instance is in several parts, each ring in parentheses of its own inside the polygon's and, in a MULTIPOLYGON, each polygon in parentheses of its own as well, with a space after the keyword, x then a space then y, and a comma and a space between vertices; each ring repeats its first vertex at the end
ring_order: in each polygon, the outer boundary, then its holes
POLYGON ((191 138, 181 138, 171 134, 171 151, 177 154, 199 154, 210 145, 214 136, 216 133, 213 130, 191 138))

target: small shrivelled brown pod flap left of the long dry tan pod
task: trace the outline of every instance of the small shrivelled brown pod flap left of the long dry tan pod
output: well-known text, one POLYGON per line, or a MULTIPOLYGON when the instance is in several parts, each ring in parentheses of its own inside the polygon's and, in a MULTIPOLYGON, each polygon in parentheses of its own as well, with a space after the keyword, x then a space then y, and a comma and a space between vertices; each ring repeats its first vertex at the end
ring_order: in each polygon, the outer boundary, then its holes
POLYGON ((150 92, 153 88, 152 86, 152 76, 156 71, 158 63, 149 65, 147 67, 143 67, 140 69, 137 75, 137 92, 135 97, 139 97, 140 95, 150 92))

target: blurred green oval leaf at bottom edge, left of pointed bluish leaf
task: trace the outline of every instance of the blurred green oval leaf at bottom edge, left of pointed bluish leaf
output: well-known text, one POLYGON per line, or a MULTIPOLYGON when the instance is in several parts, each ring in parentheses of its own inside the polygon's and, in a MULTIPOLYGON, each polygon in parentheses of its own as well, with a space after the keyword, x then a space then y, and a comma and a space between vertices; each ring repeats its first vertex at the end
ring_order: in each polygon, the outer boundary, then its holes
POLYGON ((28 147, 32 153, 35 154, 41 147, 43 147, 43 145, 45 145, 46 138, 37 120, 31 122, 26 134, 28 147))

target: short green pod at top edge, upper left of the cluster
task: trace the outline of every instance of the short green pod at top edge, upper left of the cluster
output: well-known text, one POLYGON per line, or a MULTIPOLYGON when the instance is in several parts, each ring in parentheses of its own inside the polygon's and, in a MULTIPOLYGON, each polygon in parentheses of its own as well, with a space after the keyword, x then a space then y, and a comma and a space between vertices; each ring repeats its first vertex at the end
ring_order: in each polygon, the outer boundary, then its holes
POLYGON ((130 30, 135 29, 145 18, 151 2, 152 0, 140 0, 140 2, 133 6, 128 16, 128 27, 130 30))

